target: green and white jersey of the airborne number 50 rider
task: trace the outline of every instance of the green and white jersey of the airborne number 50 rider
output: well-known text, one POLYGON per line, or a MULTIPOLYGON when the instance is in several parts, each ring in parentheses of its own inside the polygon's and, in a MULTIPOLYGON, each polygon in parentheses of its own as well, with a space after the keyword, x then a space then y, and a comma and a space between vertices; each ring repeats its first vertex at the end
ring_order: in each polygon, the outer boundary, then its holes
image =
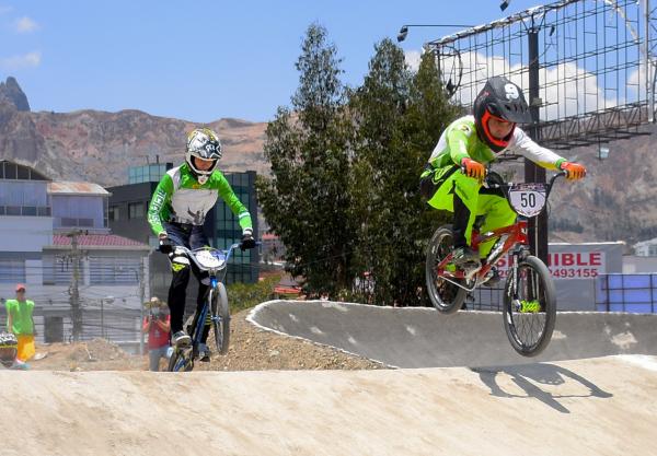
POLYGON ((566 161, 551 150, 533 142, 519 127, 514 130, 508 147, 502 152, 495 153, 476 133, 474 117, 463 116, 451 122, 442 132, 429 157, 429 164, 434 168, 441 168, 448 165, 459 165, 465 157, 485 164, 507 152, 523 155, 539 166, 549 169, 558 169, 562 162, 566 161))

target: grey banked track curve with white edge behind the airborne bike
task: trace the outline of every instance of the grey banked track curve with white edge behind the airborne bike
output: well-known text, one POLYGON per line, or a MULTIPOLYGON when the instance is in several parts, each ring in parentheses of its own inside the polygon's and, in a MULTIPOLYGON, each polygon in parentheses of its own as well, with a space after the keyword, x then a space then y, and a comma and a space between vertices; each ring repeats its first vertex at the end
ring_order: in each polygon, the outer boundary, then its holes
POLYGON ((657 354, 657 315, 558 313, 552 341, 537 358, 510 347, 496 312, 382 307, 325 301, 269 301, 252 324, 335 347, 395 367, 517 365, 612 354, 657 354))

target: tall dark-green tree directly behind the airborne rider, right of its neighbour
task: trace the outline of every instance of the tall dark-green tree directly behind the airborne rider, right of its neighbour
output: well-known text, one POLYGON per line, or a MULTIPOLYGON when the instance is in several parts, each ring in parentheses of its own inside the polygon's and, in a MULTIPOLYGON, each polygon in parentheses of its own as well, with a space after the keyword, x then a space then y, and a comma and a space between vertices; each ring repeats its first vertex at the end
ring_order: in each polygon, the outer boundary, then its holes
POLYGON ((371 278, 364 300, 424 301, 426 241, 445 219, 427 207, 419 175, 442 130, 458 114, 445 98, 435 59, 412 74, 390 39, 374 47, 365 82, 351 97, 357 125, 351 197, 358 226, 357 276, 371 278))

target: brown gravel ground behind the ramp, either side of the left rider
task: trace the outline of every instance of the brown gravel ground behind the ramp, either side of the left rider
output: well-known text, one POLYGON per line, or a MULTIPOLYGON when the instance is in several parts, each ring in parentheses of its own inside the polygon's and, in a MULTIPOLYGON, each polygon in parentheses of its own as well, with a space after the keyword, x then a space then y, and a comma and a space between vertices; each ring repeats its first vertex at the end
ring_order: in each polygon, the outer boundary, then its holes
MULTIPOLYGON (((256 328, 245 320, 249 309, 233 315, 231 343, 226 356, 212 354, 210 363, 197 362, 197 371, 267 370, 370 370, 382 364, 316 346, 300 339, 256 328)), ((212 335, 210 334, 210 348, 212 335)), ((95 339, 81 343, 38 346, 47 353, 31 361, 33 370, 48 371, 139 371, 148 369, 148 356, 131 355, 112 342, 95 339)), ((162 369, 165 364, 162 361, 162 369)))

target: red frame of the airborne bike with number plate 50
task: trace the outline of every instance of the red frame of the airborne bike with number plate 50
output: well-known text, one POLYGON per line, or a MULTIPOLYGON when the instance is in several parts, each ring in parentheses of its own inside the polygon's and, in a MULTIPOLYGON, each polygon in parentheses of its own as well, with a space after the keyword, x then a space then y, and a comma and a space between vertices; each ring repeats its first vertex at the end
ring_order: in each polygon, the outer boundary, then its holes
MULTIPOLYGON (((565 173, 561 172, 561 173, 555 174, 550 179, 550 184, 546 186, 545 200, 548 200, 548 197, 550 196, 550 192, 552 191, 552 186, 554 184, 554 180, 557 177, 564 176, 564 175, 565 175, 565 173)), ((509 187, 510 187, 510 185, 498 185, 498 184, 489 186, 489 188, 503 189, 505 191, 505 195, 507 196, 507 198, 508 198, 507 190, 509 187)), ((545 207, 548 204, 545 203, 545 207)), ((545 210, 545 207, 543 207, 542 211, 545 210)), ((539 214, 537 214, 537 215, 539 215, 539 214)), ((534 217, 537 217, 537 215, 534 215, 534 217)), ((479 246, 481 244, 483 244, 487 241, 498 239, 498 242, 493 246, 493 248, 491 249, 491 253, 486 257, 485 265, 473 268, 471 270, 463 270, 463 269, 458 268, 453 271, 450 271, 447 269, 447 267, 451 264, 452 258, 453 258, 453 253, 450 253, 436 266, 438 277, 447 280, 448 282, 450 282, 463 290, 466 290, 468 292, 473 291, 480 284, 480 282, 486 277, 486 274, 488 273, 491 268, 493 268, 493 266, 495 266, 495 264, 499 260, 499 258, 505 256, 515 246, 519 245, 518 254, 520 254, 522 250, 527 249, 528 224, 529 223, 528 223, 527 218, 518 215, 518 218, 516 219, 516 223, 514 223, 512 225, 504 226, 504 227, 493 230, 493 231, 489 231, 489 232, 486 232, 483 234, 480 234, 479 232, 473 231, 472 241, 470 244, 471 244, 472 248, 475 250, 479 249, 479 246), (500 242, 502 242, 502 244, 499 244, 500 242), (458 280, 470 281, 473 278, 475 280, 474 280, 474 284, 471 288, 464 287, 463 284, 458 282, 458 280)))

